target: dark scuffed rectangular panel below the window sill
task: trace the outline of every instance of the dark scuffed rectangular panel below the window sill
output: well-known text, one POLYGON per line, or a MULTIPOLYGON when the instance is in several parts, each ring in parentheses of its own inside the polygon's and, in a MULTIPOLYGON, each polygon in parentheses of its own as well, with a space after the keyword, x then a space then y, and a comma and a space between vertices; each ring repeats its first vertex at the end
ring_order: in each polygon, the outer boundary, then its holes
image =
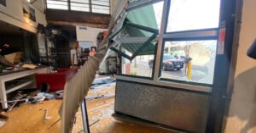
POLYGON ((205 132, 207 94, 117 80, 114 109, 180 130, 205 132))

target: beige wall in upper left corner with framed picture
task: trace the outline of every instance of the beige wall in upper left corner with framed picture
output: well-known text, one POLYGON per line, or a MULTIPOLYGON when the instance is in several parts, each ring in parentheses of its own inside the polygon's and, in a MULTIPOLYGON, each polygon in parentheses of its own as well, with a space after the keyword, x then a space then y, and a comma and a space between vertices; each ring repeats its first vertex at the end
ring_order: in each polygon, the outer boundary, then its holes
POLYGON ((15 25, 24 30, 29 30, 31 32, 37 31, 38 23, 47 25, 45 15, 38 10, 38 8, 33 7, 30 3, 27 3, 26 0, 23 0, 30 7, 35 9, 36 12, 36 23, 30 21, 23 16, 23 2, 22 0, 6 0, 6 8, 0 9, 0 20, 15 25))

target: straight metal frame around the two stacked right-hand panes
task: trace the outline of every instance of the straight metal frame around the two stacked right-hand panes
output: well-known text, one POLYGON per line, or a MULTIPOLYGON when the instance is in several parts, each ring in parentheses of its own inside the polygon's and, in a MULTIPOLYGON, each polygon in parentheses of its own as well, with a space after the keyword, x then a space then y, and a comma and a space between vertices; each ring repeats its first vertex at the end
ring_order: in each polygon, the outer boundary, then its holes
MULTIPOLYGON (((166 4, 166 20, 165 20, 165 26, 164 26, 164 33, 162 36, 162 47, 161 47, 161 55, 160 55, 160 61, 162 61, 163 55, 164 55, 164 48, 166 42, 192 42, 192 41, 217 41, 218 43, 218 30, 219 30, 219 22, 217 24, 217 27, 212 28, 195 28, 192 30, 173 30, 168 31, 168 27, 170 26, 169 17, 170 17, 170 8, 171 8, 172 2, 168 1, 166 4)), ((219 8, 218 8, 219 11, 219 8)), ((219 14, 219 12, 218 12, 219 14)), ((219 18, 218 18, 219 19, 219 18)), ((219 21, 219 20, 218 20, 219 21)), ((218 44, 216 44, 217 47, 218 44)), ((217 53, 215 54, 215 57, 217 56, 217 53)), ((215 64, 213 64, 214 68, 215 64)), ((160 65, 158 79, 162 81, 169 81, 169 82, 177 82, 177 83, 183 83, 183 84, 189 84, 194 86, 206 86, 206 87, 212 87, 212 83, 201 83, 196 82, 192 80, 175 80, 170 78, 163 78, 161 77, 162 72, 162 65, 160 65)), ((212 74, 214 74, 214 69, 212 74)), ((214 77, 214 75, 213 75, 214 77)), ((212 80, 213 82, 213 80, 212 80)), ((208 91, 211 91, 211 89, 208 89, 208 91)))

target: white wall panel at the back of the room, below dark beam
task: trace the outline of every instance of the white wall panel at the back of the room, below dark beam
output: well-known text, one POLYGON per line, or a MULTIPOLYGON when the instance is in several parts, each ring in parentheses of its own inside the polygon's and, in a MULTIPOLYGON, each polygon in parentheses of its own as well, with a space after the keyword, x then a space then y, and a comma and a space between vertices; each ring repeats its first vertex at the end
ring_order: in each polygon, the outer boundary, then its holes
POLYGON ((92 42, 92 46, 96 46, 97 36, 99 32, 107 29, 90 28, 85 26, 76 26, 77 41, 92 42))

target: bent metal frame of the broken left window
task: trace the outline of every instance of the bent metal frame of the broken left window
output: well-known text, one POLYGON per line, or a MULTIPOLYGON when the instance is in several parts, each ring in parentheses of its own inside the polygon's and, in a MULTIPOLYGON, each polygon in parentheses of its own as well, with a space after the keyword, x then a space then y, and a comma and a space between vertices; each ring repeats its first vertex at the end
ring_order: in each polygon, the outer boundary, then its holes
MULTIPOLYGON (((124 12, 121 17, 118 20, 118 24, 115 27, 115 29, 113 29, 113 34, 109 37, 109 43, 112 44, 112 47, 110 47, 110 50, 114 53, 117 53, 120 57, 122 58, 126 58, 128 60, 131 60, 136 58, 138 55, 143 54, 143 55, 152 55, 154 58, 156 56, 156 49, 157 49, 157 45, 158 45, 158 35, 159 35, 159 30, 158 29, 154 29, 151 28, 149 26, 145 26, 145 25, 140 25, 140 24, 135 24, 135 23, 131 23, 126 19, 127 14, 130 11, 133 11, 137 8, 143 8, 146 7, 148 5, 153 5, 154 3, 159 3, 159 2, 163 2, 162 0, 153 0, 153 1, 136 1, 133 3, 129 3, 127 8, 126 8, 126 12, 124 12), (120 37, 117 37, 119 32, 121 32, 122 30, 125 29, 126 26, 131 26, 132 28, 136 28, 137 30, 143 30, 146 31, 148 33, 151 33, 151 36, 146 36, 144 35, 144 37, 127 37, 125 38, 125 36, 123 36, 123 38, 121 40, 125 40, 125 42, 131 42, 132 41, 135 43, 137 42, 141 42, 141 45, 137 48, 137 50, 135 50, 134 53, 131 53, 131 55, 128 55, 125 52, 122 52, 122 41, 120 41, 120 37), (132 40, 132 41, 131 41, 132 40), (142 43, 143 42, 143 43, 142 43), (155 42, 155 43, 154 43, 155 42), (149 44, 154 43, 154 52, 153 54, 145 54, 143 53, 143 50, 149 46, 149 44)), ((154 60, 153 60, 154 62, 154 60)), ((143 78, 143 79, 153 79, 154 77, 154 66, 151 68, 151 75, 147 76, 147 75, 126 75, 126 74, 119 74, 119 75, 123 75, 123 76, 132 76, 132 77, 139 77, 139 78, 143 78)))

